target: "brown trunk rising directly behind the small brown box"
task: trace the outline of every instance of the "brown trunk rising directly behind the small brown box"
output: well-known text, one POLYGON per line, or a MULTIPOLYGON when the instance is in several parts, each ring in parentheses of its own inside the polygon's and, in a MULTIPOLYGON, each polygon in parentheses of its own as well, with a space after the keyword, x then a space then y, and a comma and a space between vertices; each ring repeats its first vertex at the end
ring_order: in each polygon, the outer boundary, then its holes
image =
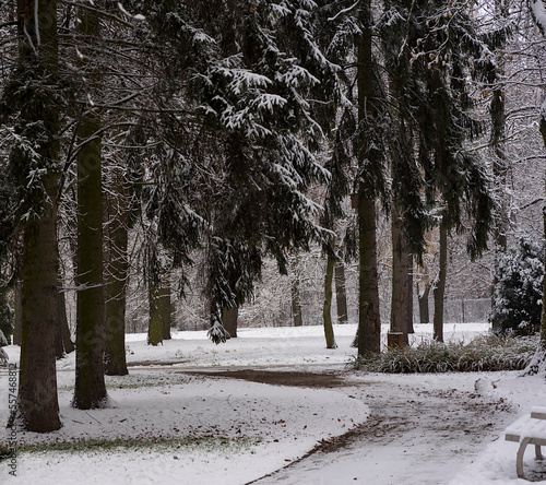
POLYGON ((413 331, 413 258, 408 255, 407 237, 404 233, 401 210, 397 205, 392 212, 392 295, 391 333, 402 333, 403 343, 408 345, 407 334, 413 331))

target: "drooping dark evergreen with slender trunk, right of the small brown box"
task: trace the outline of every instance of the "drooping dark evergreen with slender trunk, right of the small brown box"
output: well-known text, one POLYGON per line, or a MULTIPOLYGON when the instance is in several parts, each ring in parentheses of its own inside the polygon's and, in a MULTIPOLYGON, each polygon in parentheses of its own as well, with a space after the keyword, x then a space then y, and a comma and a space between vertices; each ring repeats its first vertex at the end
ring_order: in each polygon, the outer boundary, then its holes
MULTIPOLYGON (((429 206, 438 204, 438 196, 441 199, 435 214, 440 227, 440 271, 434 294, 435 338, 442 340, 448 234, 466 230, 467 249, 475 258, 486 248, 491 228, 492 199, 485 164, 467 149, 483 126, 471 116, 473 102, 465 80, 474 59, 487 59, 496 38, 479 35, 472 12, 460 2, 393 2, 382 29, 387 33, 388 70, 394 76, 401 127, 405 126, 410 134, 397 139, 414 140, 405 143, 406 153, 412 153, 407 147, 419 150, 420 169, 416 171, 405 163, 401 166, 410 169, 404 168, 402 174, 406 179, 407 174, 415 174, 415 187, 426 188, 429 206), (425 185, 419 182, 419 171, 425 174, 425 185), (465 227, 464 221, 471 221, 471 226, 465 227)), ((479 62, 474 62, 474 74, 480 70, 479 62)), ((393 182, 396 192, 396 180, 393 182)), ((400 188, 405 190, 399 192, 417 201, 419 191, 411 187, 403 182, 400 188)), ((424 217, 425 224, 419 223, 424 205, 420 208, 406 211, 413 220, 406 222, 406 233, 412 242, 417 242, 417 249, 423 248, 427 221, 424 217)))

